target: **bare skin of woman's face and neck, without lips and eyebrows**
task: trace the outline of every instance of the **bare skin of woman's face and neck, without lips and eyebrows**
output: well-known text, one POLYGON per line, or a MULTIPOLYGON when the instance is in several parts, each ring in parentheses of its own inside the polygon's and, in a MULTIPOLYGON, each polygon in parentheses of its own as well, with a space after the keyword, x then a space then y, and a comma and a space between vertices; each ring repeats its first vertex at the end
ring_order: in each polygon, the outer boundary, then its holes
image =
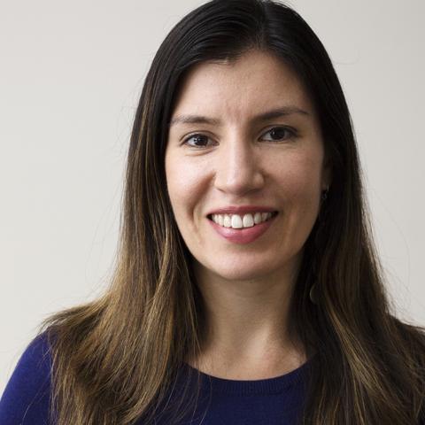
POLYGON ((208 324, 202 355, 188 363, 228 379, 290 372, 306 360, 303 347, 287 335, 290 296, 321 190, 330 184, 313 103, 282 60, 251 50, 234 63, 192 68, 170 122, 186 114, 220 120, 176 122, 166 147, 167 189, 193 255, 208 324), (253 120, 285 105, 306 113, 253 120), (276 127, 277 134, 270 132, 276 127), (189 138, 195 133, 200 138, 189 138), (228 205, 267 205, 279 214, 257 240, 236 244, 219 236, 206 217, 228 205))

